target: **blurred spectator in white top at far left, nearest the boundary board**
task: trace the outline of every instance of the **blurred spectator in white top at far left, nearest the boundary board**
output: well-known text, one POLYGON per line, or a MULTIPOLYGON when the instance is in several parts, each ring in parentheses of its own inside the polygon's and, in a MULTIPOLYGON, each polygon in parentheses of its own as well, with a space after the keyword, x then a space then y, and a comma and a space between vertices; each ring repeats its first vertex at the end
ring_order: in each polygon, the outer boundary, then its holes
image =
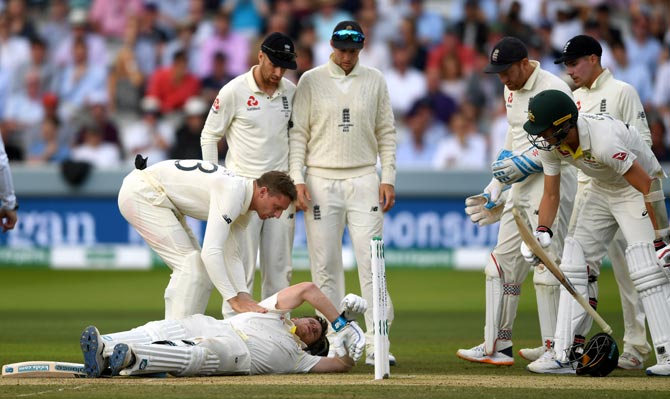
POLYGON ((103 139, 99 126, 90 121, 84 123, 83 141, 70 151, 73 161, 88 162, 96 168, 116 168, 121 165, 119 147, 103 139))

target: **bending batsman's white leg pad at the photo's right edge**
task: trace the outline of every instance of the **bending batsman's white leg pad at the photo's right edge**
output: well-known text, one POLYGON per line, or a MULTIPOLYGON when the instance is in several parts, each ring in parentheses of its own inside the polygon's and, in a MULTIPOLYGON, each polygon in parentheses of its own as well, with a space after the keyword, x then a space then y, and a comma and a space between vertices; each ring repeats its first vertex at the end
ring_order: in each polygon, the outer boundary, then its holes
POLYGON ((647 315, 651 340, 657 354, 665 353, 670 350, 670 282, 658 264, 651 243, 629 245, 626 249, 626 261, 647 315))

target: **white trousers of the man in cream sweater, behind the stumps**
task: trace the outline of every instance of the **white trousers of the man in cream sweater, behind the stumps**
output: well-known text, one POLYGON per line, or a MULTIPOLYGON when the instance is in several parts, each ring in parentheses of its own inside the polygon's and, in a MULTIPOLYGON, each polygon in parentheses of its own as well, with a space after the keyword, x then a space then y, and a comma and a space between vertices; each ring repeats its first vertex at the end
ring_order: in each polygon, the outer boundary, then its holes
MULTIPOLYGON (((305 176, 312 203, 305 212, 307 246, 312 269, 312 281, 335 306, 344 298, 344 269, 342 265, 342 235, 344 227, 356 256, 361 295, 368 302, 365 312, 368 353, 374 350, 372 317, 372 269, 370 240, 382 236, 384 214, 379 204, 379 177, 376 173, 349 178, 327 179, 305 176)), ((393 304, 388 299, 389 325, 393 321, 393 304)))

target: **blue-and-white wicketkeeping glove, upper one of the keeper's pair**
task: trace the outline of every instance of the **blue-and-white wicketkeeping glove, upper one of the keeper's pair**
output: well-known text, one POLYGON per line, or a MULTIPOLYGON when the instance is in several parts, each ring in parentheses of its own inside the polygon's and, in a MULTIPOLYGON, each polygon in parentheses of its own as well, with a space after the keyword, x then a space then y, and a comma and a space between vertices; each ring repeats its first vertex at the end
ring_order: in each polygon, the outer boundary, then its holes
POLYGON ((502 149, 491 164, 491 172, 503 184, 524 181, 528 176, 542 172, 540 150, 533 146, 520 153, 502 149))

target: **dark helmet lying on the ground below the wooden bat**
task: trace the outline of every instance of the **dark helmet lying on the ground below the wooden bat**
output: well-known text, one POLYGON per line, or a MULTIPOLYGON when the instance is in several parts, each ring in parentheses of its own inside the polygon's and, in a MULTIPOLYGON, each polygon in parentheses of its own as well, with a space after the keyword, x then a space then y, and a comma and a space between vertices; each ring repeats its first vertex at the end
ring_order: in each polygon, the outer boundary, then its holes
POLYGON ((605 377, 617 367, 619 346, 609 334, 598 333, 586 343, 576 362, 577 375, 605 377))

